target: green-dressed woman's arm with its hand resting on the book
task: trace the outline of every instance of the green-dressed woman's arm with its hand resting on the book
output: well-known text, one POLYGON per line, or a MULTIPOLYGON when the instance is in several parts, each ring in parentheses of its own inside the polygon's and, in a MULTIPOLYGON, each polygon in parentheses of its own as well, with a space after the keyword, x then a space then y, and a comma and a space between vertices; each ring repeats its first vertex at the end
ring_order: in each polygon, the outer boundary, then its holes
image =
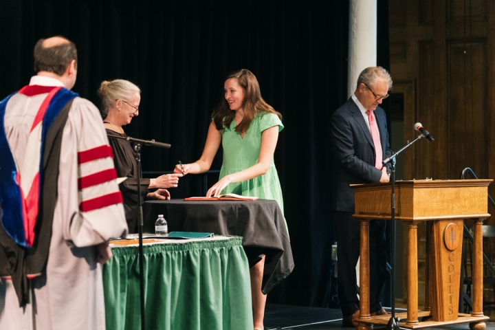
POLYGON ((273 155, 275 152, 276 143, 278 140, 278 126, 270 127, 270 129, 265 129, 261 133, 261 148, 260 155, 258 157, 258 163, 250 168, 241 170, 241 172, 226 175, 221 178, 216 184, 214 184, 208 192, 206 192, 206 197, 218 196, 221 190, 225 188, 228 184, 232 182, 240 182, 259 175, 267 173, 270 164, 272 164, 273 155))

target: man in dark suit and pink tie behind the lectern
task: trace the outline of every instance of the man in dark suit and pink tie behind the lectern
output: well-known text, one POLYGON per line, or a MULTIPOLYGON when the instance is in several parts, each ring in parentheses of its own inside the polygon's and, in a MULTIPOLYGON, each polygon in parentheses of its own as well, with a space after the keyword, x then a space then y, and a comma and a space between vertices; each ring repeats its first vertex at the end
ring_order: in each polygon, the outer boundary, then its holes
MULTIPOLYGON (((355 92, 331 117, 333 179, 331 208, 337 224, 338 295, 345 326, 355 326, 359 299, 355 266, 360 254, 360 225, 354 213, 354 192, 349 184, 389 181, 391 156, 385 111, 379 107, 392 88, 392 78, 382 67, 368 67, 355 92)), ((386 278, 385 220, 370 222, 370 312, 386 314, 382 298, 386 278)))

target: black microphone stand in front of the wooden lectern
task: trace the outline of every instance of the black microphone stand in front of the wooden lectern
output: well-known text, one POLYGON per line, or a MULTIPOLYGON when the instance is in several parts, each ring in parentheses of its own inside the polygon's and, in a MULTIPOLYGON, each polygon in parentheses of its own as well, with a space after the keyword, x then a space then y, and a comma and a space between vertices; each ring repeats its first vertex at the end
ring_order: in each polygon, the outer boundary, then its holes
POLYGON ((384 159, 384 161, 382 162, 383 165, 387 164, 388 162, 391 162, 391 183, 392 183, 392 196, 391 196, 391 211, 392 211, 392 214, 391 214, 391 220, 392 220, 392 241, 391 241, 391 245, 392 245, 392 248, 391 248, 391 266, 392 266, 391 300, 392 300, 392 307, 391 308, 392 308, 392 316, 391 316, 390 320, 388 320, 388 324, 387 324, 387 328, 386 328, 387 330, 399 330, 400 329, 400 327, 399 327, 400 318, 395 317, 395 292, 394 292, 394 287, 395 287, 395 276, 394 276, 394 274, 395 274, 395 161, 396 161, 395 158, 397 157, 397 155, 399 155, 399 153, 401 153, 406 148, 411 146, 414 142, 421 139, 421 137, 426 138, 425 135, 419 134, 418 137, 414 141, 406 144, 406 146, 401 148, 396 153, 392 153, 391 157, 384 159))

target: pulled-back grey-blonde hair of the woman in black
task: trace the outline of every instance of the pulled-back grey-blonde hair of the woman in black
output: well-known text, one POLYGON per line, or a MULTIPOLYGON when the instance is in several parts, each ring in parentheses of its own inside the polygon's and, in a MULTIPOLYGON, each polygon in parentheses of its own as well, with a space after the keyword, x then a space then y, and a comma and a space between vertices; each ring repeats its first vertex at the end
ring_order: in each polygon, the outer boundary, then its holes
POLYGON ((111 81, 102 81, 100 88, 98 88, 97 91, 102 104, 102 117, 107 117, 108 111, 113 106, 113 102, 115 102, 115 100, 124 100, 126 102, 131 102, 129 98, 135 91, 141 94, 141 89, 131 83, 129 80, 115 79, 111 81))

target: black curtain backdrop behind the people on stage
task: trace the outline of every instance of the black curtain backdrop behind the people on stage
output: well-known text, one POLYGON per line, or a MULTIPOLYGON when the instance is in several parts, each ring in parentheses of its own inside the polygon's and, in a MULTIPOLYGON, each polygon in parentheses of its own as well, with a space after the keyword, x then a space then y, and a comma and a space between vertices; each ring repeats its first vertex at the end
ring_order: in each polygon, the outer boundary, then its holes
MULTIPOLYGON (((347 99, 348 17, 347 0, 2 0, 0 95, 28 84, 38 39, 66 36, 78 47, 80 96, 99 105, 98 86, 115 78, 142 88, 140 115, 124 129, 172 144, 142 153, 144 171, 166 171, 179 159, 199 158, 224 76, 250 69, 263 98, 283 115, 275 164, 296 264, 268 299, 326 306, 335 241, 328 122, 347 99)), ((388 43, 388 28, 386 36, 388 43)), ((212 170, 220 165, 221 153, 212 170)), ((179 184, 173 198, 202 190, 198 176, 179 184)))

